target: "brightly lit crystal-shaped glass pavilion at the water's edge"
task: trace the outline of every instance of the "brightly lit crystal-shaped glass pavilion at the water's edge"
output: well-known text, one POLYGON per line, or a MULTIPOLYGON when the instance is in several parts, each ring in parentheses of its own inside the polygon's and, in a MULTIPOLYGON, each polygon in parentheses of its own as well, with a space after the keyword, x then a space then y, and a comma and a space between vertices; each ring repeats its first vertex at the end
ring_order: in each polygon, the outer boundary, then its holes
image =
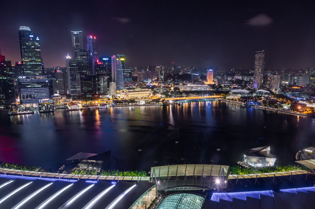
POLYGON ((270 146, 248 149, 244 153, 243 164, 252 167, 273 166, 277 158, 270 153, 270 146))

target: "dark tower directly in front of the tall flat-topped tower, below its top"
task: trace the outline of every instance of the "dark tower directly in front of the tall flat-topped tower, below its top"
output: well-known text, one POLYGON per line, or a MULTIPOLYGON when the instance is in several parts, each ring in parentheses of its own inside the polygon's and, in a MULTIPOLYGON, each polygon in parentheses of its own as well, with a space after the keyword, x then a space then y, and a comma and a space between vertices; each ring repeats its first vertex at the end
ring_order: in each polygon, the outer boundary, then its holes
POLYGON ((92 57, 88 50, 79 50, 75 59, 80 76, 93 75, 92 57))

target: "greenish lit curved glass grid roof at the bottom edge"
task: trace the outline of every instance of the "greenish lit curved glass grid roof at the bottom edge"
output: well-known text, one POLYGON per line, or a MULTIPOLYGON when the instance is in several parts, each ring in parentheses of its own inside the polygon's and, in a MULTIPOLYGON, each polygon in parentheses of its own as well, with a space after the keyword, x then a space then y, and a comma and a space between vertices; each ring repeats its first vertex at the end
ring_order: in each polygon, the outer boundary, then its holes
POLYGON ((174 194, 165 197, 162 202, 157 206, 157 209, 201 209, 204 198, 194 194, 174 194))

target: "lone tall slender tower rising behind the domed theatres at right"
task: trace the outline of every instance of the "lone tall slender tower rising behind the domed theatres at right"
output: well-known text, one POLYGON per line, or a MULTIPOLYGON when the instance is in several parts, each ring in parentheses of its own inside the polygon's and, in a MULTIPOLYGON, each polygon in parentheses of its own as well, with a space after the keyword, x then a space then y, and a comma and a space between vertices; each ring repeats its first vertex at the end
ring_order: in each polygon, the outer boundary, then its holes
POLYGON ((262 72, 265 69, 265 51, 256 51, 254 67, 254 88, 259 88, 262 84, 262 72))

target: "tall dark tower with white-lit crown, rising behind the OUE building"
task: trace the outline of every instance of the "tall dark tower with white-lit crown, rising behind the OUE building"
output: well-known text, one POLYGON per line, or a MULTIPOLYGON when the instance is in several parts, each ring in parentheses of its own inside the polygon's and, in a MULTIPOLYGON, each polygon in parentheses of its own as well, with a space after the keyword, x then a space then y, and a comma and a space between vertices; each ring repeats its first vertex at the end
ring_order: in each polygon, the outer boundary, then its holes
POLYGON ((19 39, 24 74, 42 75, 43 62, 38 36, 33 35, 29 27, 20 26, 19 39))

